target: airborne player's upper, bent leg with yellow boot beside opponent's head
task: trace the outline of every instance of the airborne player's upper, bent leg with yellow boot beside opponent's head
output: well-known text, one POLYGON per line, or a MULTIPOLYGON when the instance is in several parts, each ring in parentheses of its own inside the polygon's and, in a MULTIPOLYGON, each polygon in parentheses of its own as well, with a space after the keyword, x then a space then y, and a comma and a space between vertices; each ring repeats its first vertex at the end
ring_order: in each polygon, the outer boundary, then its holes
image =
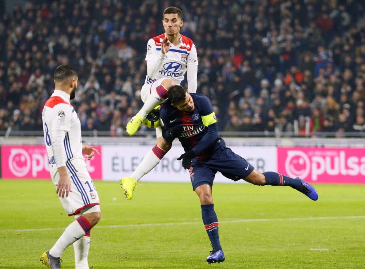
POLYGON ((153 83, 150 88, 150 95, 145 100, 145 104, 141 110, 127 123, 126 131, 129 135, 134 135, 139 127, 141 127, 143 120, 146 119, 149 112, 163 103, 167 98, 168 89, 174 85, 174 81, 170 78, 162 80, 161 84, 153 83))

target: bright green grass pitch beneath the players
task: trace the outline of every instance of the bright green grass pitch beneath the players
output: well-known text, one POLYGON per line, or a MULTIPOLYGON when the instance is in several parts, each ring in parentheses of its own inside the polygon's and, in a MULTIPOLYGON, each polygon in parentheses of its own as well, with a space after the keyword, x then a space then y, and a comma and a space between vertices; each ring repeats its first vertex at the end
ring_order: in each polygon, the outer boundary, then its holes
MULTIPOLYGON (((215 184, 215 210, 226 255, 226 262, 219 265, 205 262, 211 247, 190 184, 140 183, 131 201, 123 198, 118 182, 95 185, 102 217, 91 232, 89 265, 94 269, 363 268, 365 264, 364 217, 308 218, 364 216, 364 185, 316 185, 319 200, 314 202, 290 187, 215 184)), ((73 220, 66 216, 53 185, 0 180, 0 197, 0 268, 45 268, 39 264, 40 255, 73 220), (42 228, 53 230, 15 231, 42 228)), ((74 268, 72 246, 62 259, 62 268, 74 268)))

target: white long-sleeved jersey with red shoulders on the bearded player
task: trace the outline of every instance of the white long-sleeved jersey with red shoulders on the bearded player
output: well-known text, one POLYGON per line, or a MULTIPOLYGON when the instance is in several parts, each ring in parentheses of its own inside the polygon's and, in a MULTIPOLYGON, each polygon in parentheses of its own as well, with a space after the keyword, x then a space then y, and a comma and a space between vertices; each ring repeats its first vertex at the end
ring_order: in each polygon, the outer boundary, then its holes
POLYGON ((43 107, 43 135, 50 166, 55 164, 51 146, 51 130, 66 131, 64 139, 66 162, 75 159, 84 161, 84 157, 82 157, 81 124, 75 109, 70 104, 69 98, 70 96, 64 91, 55 90, 43 107))

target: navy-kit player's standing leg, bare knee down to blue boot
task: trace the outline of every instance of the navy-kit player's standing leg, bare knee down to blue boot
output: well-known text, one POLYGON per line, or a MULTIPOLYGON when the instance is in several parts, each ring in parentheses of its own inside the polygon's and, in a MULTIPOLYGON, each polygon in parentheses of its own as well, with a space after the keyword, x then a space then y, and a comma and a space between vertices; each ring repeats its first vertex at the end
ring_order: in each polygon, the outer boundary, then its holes
POLYGON ((207 257, 207 262, 210 264, 223 262, 225 258, 219 241, 219 223, 214 211, 212 187, 208 184, 203 184, 196 187, 195 192, 199 196, 201 217, 213 247, 213 250, 210 251, 210 255, 207 257))

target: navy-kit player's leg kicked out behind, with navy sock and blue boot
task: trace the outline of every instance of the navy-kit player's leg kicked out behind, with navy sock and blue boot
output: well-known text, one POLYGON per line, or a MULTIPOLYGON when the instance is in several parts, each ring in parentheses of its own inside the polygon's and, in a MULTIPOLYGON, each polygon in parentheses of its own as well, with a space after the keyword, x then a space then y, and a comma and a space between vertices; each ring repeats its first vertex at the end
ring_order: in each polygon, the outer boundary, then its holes
POLYGON ((290 186, 310 199, 314 201, 318 200, 318 192, 316 189, 299 177, 291 178, 277 172, 261 173, 253 170, 245 180, 255 185, 290 186))

